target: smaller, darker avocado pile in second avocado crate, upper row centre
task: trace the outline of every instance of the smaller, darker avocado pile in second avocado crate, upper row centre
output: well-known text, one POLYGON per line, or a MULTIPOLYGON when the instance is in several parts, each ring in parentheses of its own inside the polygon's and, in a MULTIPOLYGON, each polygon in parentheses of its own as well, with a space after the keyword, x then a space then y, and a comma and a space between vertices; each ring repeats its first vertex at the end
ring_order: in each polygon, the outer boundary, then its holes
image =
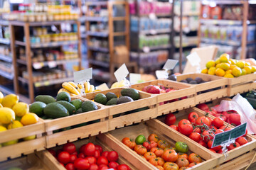
POLYGON ((106 95, 97 94, 94 98, 94 101, 97 103, 101 103, 105 106, 113 106, 131 101, 136 101, 140 98, 139 92, 136 89, 122 89, 121 95, 122 96, 117 98, 117 95, 115 95, 112 92, 107 92, 106 95))

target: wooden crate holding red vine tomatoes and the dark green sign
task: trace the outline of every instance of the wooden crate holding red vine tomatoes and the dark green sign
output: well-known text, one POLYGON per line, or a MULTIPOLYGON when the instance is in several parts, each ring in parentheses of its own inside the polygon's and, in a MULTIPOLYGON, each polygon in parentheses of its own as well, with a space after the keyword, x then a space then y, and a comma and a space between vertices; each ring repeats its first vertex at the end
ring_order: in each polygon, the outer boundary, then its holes
MULTIPOLYGON (((191 113, 191 112, 196 112, 196 113, 198 113, 199 116, 205 115, 205 112, 199 110, 198 108, 188 108, 188 109, 186 109, 184 111, 180 111, 178 114, 176 114, 176 123, 175 123, 175 125, 178 125, 178 122, 180 120, 187 119, 188 114, 191 113)), ((212 117, 212 116, 209 115, 209 117, 212 117)), ((182 135, 180 132, 177 132, 176 130, 174 130, 174 129, 170 128, 168 125, 166 125, 164 123, 164 117, 161 117, 161 118, 158 118, 158 119, 155 119, 155 120, 151 120, 149 123, 151 125, 154 125, 155 127, 163 126, 165 128, 168 128, 169 130, 171 130, 173 132, 176 132, 176 135, 181 135, 186 140, 191 140, 189 137, 186 137, 185 135, 182 135)), ((228 124, 225 123, 225 125, 228 125, 228 124)), ((234 127, 230 126, 230 128, 234 128, 234 127)), ((171 135, 171 133, 170 133, 170 135, 171 135)), ((215 153, 213 153, 214 157, 215 157, 215 162, 217 163, 217 164, 215 164, 215 166, 217 166, 219 164, 223 164, 223 163, 227 162, 230 159, 234 159, 236 157, 239 157, 240 155, 245 154, 246 152, 250 152, 252 149, 256 148, 256 140, 255 140, 254 137, 252 137, 251 135, 246 135, 245 138, 247 139, 248 143, 245 144, 245 145, 242 145, 242 147, 238 147, 236 149, 228 151, 227 152, 228 156, 227 156, 226 159, 225 159, 224 154, 215 154, 215 153)), ((187 142, 187 141, 185 141, 185 142, 187 142)), ((194 142, 194 145, 196 145, 197 147, 202 147, 197 142, 194 142)), ((208 149, 206 149, 206 147, 203 147, 203 148, 207 152, 210 152, 208 149)), ((213 166, 209 167, 209 168, 213 168, 213 166)))

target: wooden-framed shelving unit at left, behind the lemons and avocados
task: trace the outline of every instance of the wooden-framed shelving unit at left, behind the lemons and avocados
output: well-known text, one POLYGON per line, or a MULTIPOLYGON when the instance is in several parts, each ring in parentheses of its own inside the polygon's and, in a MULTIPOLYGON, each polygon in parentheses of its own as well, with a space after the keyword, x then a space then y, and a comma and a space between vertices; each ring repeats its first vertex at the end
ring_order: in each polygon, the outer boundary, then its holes
MULTIPOLYGON (((78 62, 78 67, 81 67, 81 41, 80 41, 80 22, 79 21, 46 21, 46 22, 22 22, 22 21, 9 21, 11 26, 11 53, 13 54, 13 65, 14 65, 14 91, 18 96, 20 96, 21 101, 26 101, 26 103, 32 103, 35 98, 34 87, 40 86, 49 86, 53 84, 61 84, 64 81, 72 81, 73 77, 66 77, 63 79, 50 79, 48 81, 37 81, 33 82, 33 62, 31 59, 31 49, 36 48, 51 48, 51 47, 62 47, 63 45, 78 45, 78 60, 74 60, 74 62, 78 62), (58 41, 58 42, 44 42, 44 43, 31 43, 30 41, 30 28, 32 27, 41 27, 41 26, 58 26, 62 23, 76 24, 78 26, 78 40, 72 41, 58 41), (23 27, 25 42, 20 40, 16 40, 15 29, 16 27, 23 27), (20 60, 16 56, 16 45, 25 47, 26 49, 26 61, 20 60), (18 73, 21 72, 19 70, 18 64, 25 65, 27 67, 28 77, 30 79, 24 79, 23 77, 19 77, 18 73), (28 84, 28 97, 21 94, 21 88, 18 85, 18 82, 21 81, 25 84, 28 84)), ((62 65, 71 60, 62 60, 56 61, 55 65, 62 65)), ((73 62, 73 61, 71 61, 73 62)), ((48 66, 48 62, 41 62, 39 64, 44 66, 48 66)))

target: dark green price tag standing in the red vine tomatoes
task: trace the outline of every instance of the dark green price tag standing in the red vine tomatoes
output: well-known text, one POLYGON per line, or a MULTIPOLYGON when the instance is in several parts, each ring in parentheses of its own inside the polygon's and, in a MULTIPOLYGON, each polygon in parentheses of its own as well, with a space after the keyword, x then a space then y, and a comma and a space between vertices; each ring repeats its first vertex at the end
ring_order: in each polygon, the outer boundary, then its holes
POLYGON ((245 135, 246 125, 247 123, 243 123, 242 125, 239 125, 232 130, 215 134, 212 147, 228 144, 234 141, 236 138, 245 135))

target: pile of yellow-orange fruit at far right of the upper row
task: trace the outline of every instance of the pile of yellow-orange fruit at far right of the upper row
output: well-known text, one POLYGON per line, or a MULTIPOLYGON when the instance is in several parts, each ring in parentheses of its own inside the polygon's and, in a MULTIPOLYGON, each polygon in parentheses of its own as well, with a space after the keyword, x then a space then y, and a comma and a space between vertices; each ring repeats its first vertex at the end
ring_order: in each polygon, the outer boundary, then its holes
POLYGON ((219 77, 234 78, 256 71, 256 66, 251 66, 250 62, 230 59, 226 53, 220 55, 217 60, 210 60, 206 63, 206 68, 201 71, 204 74, 216 75, 219 77))

